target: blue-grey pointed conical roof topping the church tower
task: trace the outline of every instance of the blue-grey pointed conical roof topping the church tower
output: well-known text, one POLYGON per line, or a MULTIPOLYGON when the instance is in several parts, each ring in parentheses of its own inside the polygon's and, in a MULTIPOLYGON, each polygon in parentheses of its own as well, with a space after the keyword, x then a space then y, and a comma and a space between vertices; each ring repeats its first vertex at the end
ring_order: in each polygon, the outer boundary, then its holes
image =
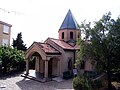
POLYGON ((63 29, 68 29, 68 30, 78 30, 78 24, 77 21, 75 20, 74 16, 71 13, 71 10, 68 11, 61 27, 59 30, 63 30, 63 29))

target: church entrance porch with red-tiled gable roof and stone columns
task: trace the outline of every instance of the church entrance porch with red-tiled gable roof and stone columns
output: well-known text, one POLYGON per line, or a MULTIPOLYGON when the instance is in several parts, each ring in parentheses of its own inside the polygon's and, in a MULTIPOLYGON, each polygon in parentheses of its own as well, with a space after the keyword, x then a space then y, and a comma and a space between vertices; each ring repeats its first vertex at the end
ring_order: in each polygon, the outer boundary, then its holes
MULTIPOLYGON (((59 74, 59 60, 61 53, 51 47, 47 43, 34 42, 26 51, 26 77, 30 75, 30 60, 34 63, 33 69, 36 73, 42 73, 45 81, 49 79, 49 76, 58 76, 59 74), (56 58, 55 58, 56 57, 56 58), (57 62, 58 61, 58 62, 57 62), (54 65, 55 64, 55 65, 54 65), (53 66, 56 66, 57 73, 53 66)), ((60 68, 60 67, 59 67, 60 68)))

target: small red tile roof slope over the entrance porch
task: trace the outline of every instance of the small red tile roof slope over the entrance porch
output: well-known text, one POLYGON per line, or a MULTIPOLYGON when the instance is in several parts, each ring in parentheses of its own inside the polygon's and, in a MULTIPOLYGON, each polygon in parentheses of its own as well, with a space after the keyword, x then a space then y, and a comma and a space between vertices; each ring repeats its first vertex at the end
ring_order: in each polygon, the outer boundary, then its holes
POLYGON ((49 44, 46 43, 40 43, 40 42, 35 42, 37 43, 37 45, 39 45, 41 47, 41 49, 45 52, 45 53, 57 53, 60 54, 59 51, 57 51, 55 48, 51 47, 49 44))

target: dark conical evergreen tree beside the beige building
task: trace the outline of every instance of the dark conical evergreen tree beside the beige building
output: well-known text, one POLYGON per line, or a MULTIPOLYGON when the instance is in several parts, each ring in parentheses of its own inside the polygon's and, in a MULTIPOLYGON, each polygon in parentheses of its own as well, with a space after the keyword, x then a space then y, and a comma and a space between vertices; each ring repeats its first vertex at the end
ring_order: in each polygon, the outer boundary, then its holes
POLYGON ((14 48, 17 48, 18 50, 26 51, 27 47, 26 44, 24 44, 22 40, 22 33, 18 33, 16 40, 13 39, 13 45, 14 48))

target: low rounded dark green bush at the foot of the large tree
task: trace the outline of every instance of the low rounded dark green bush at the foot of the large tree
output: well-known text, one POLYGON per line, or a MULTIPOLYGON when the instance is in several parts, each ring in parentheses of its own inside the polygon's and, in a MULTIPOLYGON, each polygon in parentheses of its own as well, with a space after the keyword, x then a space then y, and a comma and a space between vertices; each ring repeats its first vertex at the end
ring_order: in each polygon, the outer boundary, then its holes
POLYGON ((102 87, 100 80, 92 80, 89 75, 78 75, 73 79, 73 88, 75 90, 98 90, 102 87))

